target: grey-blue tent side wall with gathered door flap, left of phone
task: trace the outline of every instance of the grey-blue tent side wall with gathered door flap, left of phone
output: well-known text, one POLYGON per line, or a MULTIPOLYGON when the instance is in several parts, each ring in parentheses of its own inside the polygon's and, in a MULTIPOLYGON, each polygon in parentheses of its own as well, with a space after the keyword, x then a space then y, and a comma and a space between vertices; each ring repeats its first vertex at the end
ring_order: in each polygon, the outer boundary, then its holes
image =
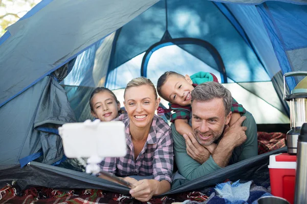
POLYGON ((42 152, 41 162, 53 164, 63 157, 58 125, 75 122, 67 95, 52 77, 44 78, 0 109, 4 134, 0 137, 0 164, 42 152))

